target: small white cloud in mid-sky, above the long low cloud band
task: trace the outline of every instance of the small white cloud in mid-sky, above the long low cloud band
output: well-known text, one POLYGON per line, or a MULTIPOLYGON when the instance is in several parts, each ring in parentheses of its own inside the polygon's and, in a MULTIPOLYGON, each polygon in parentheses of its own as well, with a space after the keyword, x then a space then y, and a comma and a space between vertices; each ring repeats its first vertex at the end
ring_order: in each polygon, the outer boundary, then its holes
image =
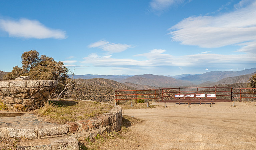
POLYGON ((129 44, 109 43, 108 41, 98 41, 89 45, 89 48, 101 48, 109 53, 119 53, 133 47, 129 44))

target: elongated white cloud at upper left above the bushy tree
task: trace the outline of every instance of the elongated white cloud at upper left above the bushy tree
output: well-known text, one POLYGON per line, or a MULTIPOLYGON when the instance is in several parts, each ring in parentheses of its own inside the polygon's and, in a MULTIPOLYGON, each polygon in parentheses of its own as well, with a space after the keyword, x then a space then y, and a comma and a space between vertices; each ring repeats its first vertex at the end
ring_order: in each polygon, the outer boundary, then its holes
POLYGON ((59 29, 50 29, 37 20, 20 19, 15 20, 4 20, 0 19, 0 28, 3 31, 8 32, 10 37, 21 37, 21 38, 54 38, 54 39, 65 39, 65 31, 59 29))

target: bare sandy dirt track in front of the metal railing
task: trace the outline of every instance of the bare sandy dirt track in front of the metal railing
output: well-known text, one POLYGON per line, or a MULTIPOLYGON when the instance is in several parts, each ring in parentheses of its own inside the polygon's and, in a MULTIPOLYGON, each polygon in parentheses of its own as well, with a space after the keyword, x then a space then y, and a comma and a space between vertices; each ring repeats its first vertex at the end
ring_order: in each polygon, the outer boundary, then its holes
POLYGON ((256 103, 171 105, 123 110, 124 115, 145 120, 129 127, 138 149, 256 149, 256 103))

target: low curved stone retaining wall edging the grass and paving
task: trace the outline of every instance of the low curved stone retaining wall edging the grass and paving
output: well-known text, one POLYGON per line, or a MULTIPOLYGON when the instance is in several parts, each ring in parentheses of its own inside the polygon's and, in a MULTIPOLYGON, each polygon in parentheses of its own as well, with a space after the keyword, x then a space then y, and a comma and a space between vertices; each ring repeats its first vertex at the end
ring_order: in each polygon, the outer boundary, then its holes
POLYGON ((70 135, 74 138, 93 138, 106 131, 119 131, 122 124, 122 110, 114 106, 108 113, 96 119, 70 122, 64 125, 41 127, 3 127, 0 128, 0 137, 25 137, 28 139, 41 139, 70 135))

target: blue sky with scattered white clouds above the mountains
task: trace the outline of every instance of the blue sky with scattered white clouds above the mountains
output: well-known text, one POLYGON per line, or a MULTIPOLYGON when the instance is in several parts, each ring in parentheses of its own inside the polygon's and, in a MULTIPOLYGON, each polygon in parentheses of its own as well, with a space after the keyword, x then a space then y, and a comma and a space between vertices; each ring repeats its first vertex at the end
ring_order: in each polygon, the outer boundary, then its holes
POLYGON ((256 67, 255 0, 1 0, 0 70, 24 51, 75 74, 202 74, 256 67))

